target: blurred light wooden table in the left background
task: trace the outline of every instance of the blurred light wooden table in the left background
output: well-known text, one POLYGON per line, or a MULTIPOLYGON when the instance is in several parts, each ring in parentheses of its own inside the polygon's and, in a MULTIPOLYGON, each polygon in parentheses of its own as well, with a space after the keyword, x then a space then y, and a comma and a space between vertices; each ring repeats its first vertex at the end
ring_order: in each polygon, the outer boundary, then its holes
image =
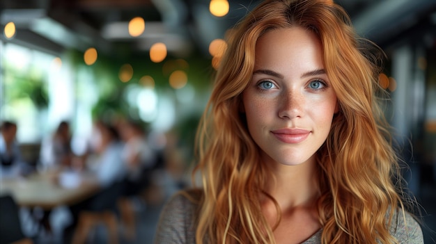
POLYGON ((81 173, 77 187, 63 187, 58 174, 41 172, 27 177, 1 179, 0 195, 10 193, 15 202, 23 207, 40 207, 50 211, 56 206, 71 205, 86 200, 100 190, 92 174, 81 173))

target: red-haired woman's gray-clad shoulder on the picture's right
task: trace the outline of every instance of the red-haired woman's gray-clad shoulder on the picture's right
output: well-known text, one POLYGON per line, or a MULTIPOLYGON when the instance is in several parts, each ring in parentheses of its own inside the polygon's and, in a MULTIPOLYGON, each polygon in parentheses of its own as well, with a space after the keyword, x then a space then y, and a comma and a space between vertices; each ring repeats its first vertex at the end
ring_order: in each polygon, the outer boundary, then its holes
POLYGON ((398 240, 398 243, 424 243, 419 223, 410 213, 403 212, 401 209, 397 209, 394 216, 392 216, 389 231, 398 240))

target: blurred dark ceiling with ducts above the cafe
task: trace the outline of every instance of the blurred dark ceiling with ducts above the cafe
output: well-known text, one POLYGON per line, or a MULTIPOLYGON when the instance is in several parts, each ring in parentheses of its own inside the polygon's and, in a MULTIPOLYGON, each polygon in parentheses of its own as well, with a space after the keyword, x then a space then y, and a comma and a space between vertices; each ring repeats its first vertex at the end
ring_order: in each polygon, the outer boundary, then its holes
MULTIPOLYGON (((142 55, 155 42, 175 56, 208 55, 208 44, 256 5, 229 0, 224 17, 209 13, 210 0, 0 0, 0 24, 15 22, 17 34, 7 40, 54 54, 96 47, 118 56, 142 55), (137 38, 127 33, 133 17, 146 20, 137 38)), ((436 29, 436 0, 336 0, 352 17, 357 31, 379 44, 410 29, 436 29)), ((2 28, 3 29, 3 28, 2 28)), ((1 37, 3 40, 5 38, 1 37)))

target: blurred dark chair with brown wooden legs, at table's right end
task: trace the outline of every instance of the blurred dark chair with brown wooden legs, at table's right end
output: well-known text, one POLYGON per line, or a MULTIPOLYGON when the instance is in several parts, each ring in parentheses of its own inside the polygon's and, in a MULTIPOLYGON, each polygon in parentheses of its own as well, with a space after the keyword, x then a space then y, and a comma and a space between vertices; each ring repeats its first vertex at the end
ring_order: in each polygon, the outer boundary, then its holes
POLYGON ((118 243, 118 215, 116 200, 122 190, 121 183, 102 190, 90 201, 90 206, 79 213, 77 228, 72 237, 72 244, 83 244, 91 231, 100 224, 107 228, 107 243, 118 243))

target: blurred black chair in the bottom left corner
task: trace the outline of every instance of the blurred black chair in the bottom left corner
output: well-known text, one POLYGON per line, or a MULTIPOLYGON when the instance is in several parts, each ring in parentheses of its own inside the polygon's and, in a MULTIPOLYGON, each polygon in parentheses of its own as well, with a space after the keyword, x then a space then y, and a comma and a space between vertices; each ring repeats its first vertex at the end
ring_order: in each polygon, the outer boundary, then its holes
POLYGON ((0 196, 0 244, 32 244, 24 236, 17 203, 10 195, 0 196))

